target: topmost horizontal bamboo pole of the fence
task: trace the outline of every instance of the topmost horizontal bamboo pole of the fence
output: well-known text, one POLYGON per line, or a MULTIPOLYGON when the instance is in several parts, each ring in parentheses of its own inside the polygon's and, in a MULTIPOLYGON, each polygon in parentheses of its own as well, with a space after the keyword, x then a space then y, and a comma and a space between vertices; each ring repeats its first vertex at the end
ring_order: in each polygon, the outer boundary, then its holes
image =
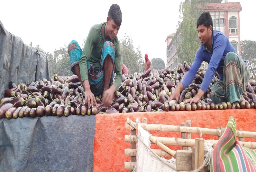
MULTIPOLYGON (((181 127, 174 125, 163 125, 163 124, 146 124, 141 123, 140 126, 147 131, 173 131, 173 132, 186 132, 186 133, 201 133, 207 135, 221 136, 221 129, 210 129, 201 127, 181 127)), ((132 129, 132 127, 126 122, 126 129, 132 129)), ((248 137, 256 138, 256 132, 253 131, 236 131, 237 137, 248 137)))

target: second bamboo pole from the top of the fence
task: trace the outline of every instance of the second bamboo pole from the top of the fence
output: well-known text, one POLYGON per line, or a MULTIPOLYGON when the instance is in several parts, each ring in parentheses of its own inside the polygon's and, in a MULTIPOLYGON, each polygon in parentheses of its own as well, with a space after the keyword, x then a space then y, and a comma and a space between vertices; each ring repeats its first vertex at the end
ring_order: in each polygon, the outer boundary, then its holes
MULTIPOLYGON (((125 135, 125 142, 130 142, 130 135, 125 135)), ((136 136, 132 136, 136 137, 136 136)), ((181 138, 176 138, 176 137, 157 137, 157 136, 151 136, 158 142, 161 142, 166 145, 174 145, 174 146, 195 146, 195 139, 181 139, 181 138)), ((137 137, 136 137, 137 138, 137 137)), ((150 140, 151 141, 151 140, 150 140)), ((152 141, 153 142, 153 141, 152 141)), ((205 140, 205 142, 212 143, 213 142, 213 147, 216 145, 218 140, 205 140)), ((154 143, 154 142, 153 142, 154 143)), ((239 143, 246 148, 250 149, 256 149, 256 142, 251 142, 251 141, 239 141, 239 143)))

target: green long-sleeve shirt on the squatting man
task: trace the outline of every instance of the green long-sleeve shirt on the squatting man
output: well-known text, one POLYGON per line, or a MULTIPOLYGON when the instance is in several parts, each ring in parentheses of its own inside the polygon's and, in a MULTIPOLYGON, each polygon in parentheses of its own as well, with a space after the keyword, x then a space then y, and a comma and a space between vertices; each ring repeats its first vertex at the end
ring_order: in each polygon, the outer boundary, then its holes
MULTIPOLYGON (((105 26, 106 22, 101 24, 95 24, 91 27, 88 37, 85 41, 84 49, 82 52, 81 59, 79 61, 80 66, 80 74, 82 83, 84 80, 88 80, 88 67, 87 61, 95 67, 100 67, 100 59, 103 44, 105 42, 105 26)), ((119 88, 122 81, 122 62, 121 62, 121 51, 120 51, 120 43, 115 37, 113 41, 115 45, 115 73, 116 78, 114 85, 116 86, 116 90, 119 88)))

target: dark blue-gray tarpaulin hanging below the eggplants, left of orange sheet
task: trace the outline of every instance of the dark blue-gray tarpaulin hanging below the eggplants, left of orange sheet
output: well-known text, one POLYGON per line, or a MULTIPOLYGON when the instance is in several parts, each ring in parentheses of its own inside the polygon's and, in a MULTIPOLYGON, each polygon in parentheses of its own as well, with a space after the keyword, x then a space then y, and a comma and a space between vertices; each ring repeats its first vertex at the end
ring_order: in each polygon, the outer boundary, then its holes
POLYGON ((96 115, 0 119, 0 171, 93 171, 95 121, 96 115))

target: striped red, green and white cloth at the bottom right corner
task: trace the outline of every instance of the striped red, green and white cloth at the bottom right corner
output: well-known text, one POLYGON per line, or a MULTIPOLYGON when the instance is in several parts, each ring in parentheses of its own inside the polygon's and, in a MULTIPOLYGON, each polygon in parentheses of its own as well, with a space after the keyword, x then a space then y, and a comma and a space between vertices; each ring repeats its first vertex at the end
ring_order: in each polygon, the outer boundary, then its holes
POLYGON ((211 171, 254 171, 256 172, 256 152, 244 148, 236 140, 236 123, 229 118, 227 127, 213 150, 211 171))

